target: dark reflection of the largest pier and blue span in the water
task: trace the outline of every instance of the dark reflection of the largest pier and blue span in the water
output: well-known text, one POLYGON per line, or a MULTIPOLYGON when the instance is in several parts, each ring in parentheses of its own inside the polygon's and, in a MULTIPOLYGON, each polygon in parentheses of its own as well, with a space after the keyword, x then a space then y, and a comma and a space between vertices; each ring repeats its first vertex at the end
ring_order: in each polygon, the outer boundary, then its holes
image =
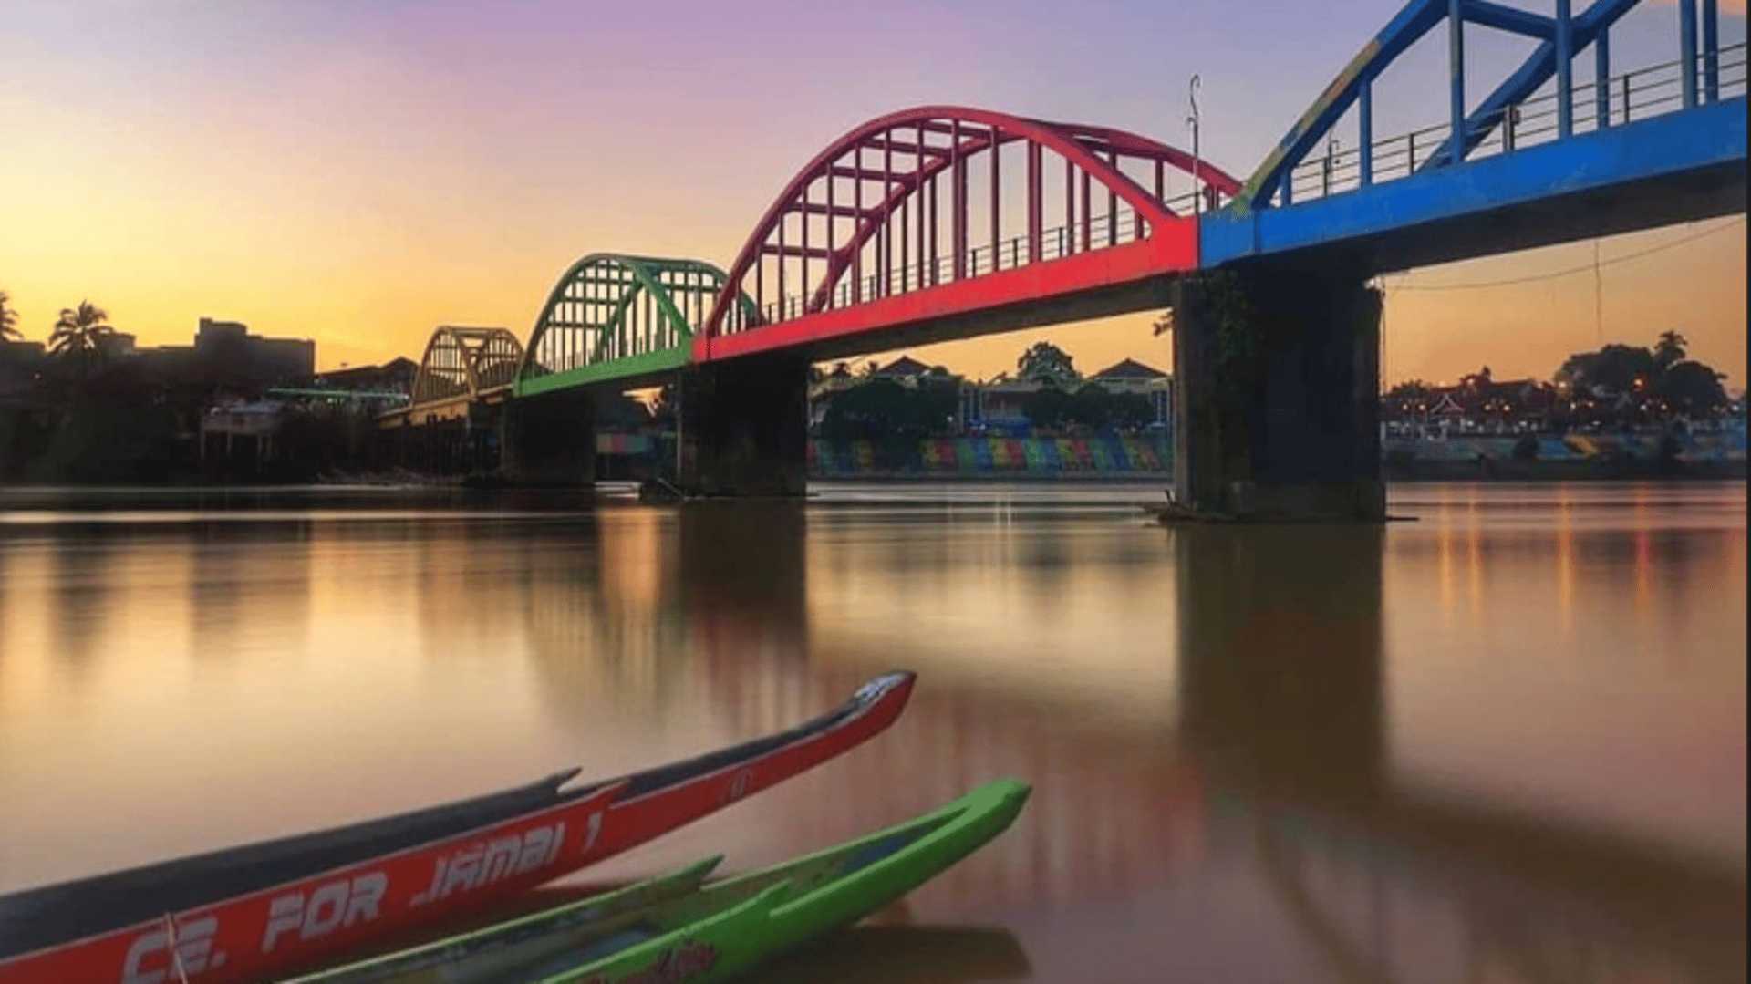
POLYGON ((1383 536, 1175 532, 1184 728, 1206 763, 1212 853, 1250 860, 1333 979, 1744 979, 1742 872, 1399 781, 1383 536))

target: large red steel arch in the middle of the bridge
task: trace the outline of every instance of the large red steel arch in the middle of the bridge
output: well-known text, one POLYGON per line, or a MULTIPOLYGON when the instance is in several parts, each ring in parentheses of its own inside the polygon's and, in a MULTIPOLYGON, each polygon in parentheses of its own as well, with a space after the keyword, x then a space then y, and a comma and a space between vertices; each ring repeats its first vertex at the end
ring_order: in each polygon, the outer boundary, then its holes
MULTIPOLYGON (((835 306, 835 291, 840 292, 840 303, 860 303, 863 299, 861 256, 865 247, 870 245, 876 245, 876 252, 881 256, 872 298, 893 292, 891 275, 895 273, 898 273, 902 284, 898 292, 981 275, 977 270, 981 247, 975 245, 972 252, 967 249, 968 238, 974 235, 967 219, 970 205, 967 191, 970 166, 967 166, 967 161, 981 154, 986 156, 991 175, 991 243, 986 252, 991 266, 989 271, 1003 266, 1002 256, 1005 250, 1010 250, 1009 266, 1054 259, 1044 256, 1045 228, 1042 198, 1047 182, 1044 151, 1051 151, 1061 158, 1065 170, 1066 221, 1065 228, 1059 229, 1059 240, 1066 242, 1068 247, 1059 247, 1058 256, 1098 249, 1093 240, 1096 235, 1094 224, 1100 221, 1105 221, 1105 228, 1100 233, 1107 240, 1105 245, 1115 245, 1114 240, 1121 226, 1121 201, 1131 210, 1129 222, 1133 229, 1128 235, 1128 242, 1154 238, 1163 229, 1180 229, 1182 235, 1196 243, 1194 219, 1178 214, 1166 200, 1164 172, 1168 168, 1192 175, 1194 179, 1196 191, 1187 194, 1185 205, 1192 205, 1199 191, 1212 203, 1217 201, 1217 196, 1233 196, 1240 191, 1240 180, 1220 168, 1198 161, 1177 147, 1122 130, 1047 123, 982 109, 947 105, 893 112, 863 123, 833 140, 784 186, 772 207, 755 224, 753 233, 730 266, 723 291, 718 294, 711 317, 706 319, 702 334, 709 343, 711 338, 746 331, 758 324, 818 313, 835 306), (998 154, 991 151, 1010 144, 1024 144, 1028 149, 1028 201, 1024 236, 1005 238, 1000 233, 1002 221, 998 217, 1002 214, 998 154), (870 165, 870 154, 881 158, 881 163, 870 165), (1154 191, 1145 189, 1136 179, 1121 170, 1121 163, 1138 161, 1154 168, 1154 191), (895 165, 905 163, 911 165, 911 170, 895 170, 895 165), (939 226, 935 200, 940 198, 937 194, 939 177, 949 179, 954 196, 947 219, 951 226, 951 249, 946 256, 935 249, 939 226), (835 196, 835 186, 840 179, 853 182, 849 196, 835 196), (876 182, 879 187, 865 196, 870 182, 876 182), (825 194, 819 194, 816 186, 825 187, 825 194), (1100 194, 1107 200, 1107 210, 1100 219, 1091 217, 1091 186, 1098 186, 1100 194), (1075 203, 1077 187, 1080 187, 1080 210, 1075 203), (911 212, 919 212, 919 215, 916 222, 909 224, 907 215, 911 212), (900 215, 898 222, 895 222, 897 215, 900 215), (811 217, 825 217, 825 243, 809 243, 811 217), (800 243, 784 242, 788 219, 800 221, 800 243), (840 221, 851 222, 849 235, 844 238, 835 236, 835 226, 840 221), (1068 236, 1063 235, 1065 231, 1068 231, 1068 236), (912 236, 918 238, 912 250, 918 261, 916 282, 912 280, 912 270, 904 261, 911 245, 907 240, 912 236), (1075 247, 1077 236, 1082 240, 1080 249, 1075 247), (1023 243, 1026 243, 1026 250, 1023 250, 1023 243), (888 263, 895 245, 898 245, 898 252, 902 254, 898 271, 888 263), (1023 261, 1023 252, 1026 252, 1026 261, 1023 261), (758 280, 762 259, 772 256, 779 259, 781 270, 784 261, 800 261, 804 282, 802 294, 797 296, 795 305, 786 301, 784 285, 777 285, 779 306, 776 317, 772 317, 772 305, 767 303, 763 294, 765 284, 758 280), (944 259, 953 266, 951 277, 940 275, 944 259), (809 277, 811 261, 825 263, 825 271, 818 280, 811 280, 809 277), (974 266, 972 273, 968 273, 968 266, 974 266), (749 273, 756 278, 753 287, 748 284, 749 273), (732 305, 737 296, 742 298, 742 305, 732 305), (748 317, 746 298, 749 296, 755 299, 755 317, 748 317)), ((779 273, 779 278, 783 280, 783 273, 779 273)))

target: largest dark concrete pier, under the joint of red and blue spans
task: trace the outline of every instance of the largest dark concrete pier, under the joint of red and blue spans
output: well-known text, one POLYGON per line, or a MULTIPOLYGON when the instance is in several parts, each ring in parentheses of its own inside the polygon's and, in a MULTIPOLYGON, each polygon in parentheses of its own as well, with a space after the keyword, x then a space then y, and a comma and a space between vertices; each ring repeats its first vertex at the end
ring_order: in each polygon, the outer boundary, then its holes
POLYGON ((1378 522, 1380 292, 1357 268, 1250 261, 1175 285, 1180 504, 1378 522))

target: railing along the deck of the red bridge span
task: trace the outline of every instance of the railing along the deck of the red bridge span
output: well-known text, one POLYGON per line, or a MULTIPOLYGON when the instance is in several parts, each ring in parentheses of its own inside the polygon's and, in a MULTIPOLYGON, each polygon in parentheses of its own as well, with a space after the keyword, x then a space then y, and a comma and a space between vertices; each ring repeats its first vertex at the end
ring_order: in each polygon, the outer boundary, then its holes
MULTIPOLYGON (((1178 215, 1192 215, 1196 210, 1213 212, 1226 205, 1227 200, 1213 187, 1206 187, 1203 203, 1198 201, 1198 193, 1192 191, 1166 198, 1164 203, 1178 215)), ((1145 231, 1143 221, 1138 219, 1136 210, 1133 208, 1119 208, 1117 212, 1093 215, 1087 222, 1052 226, 1042 231, 1040 263, 1094 249, 1133 243, 1145 238, 1145 231)), ((1030 264, 1026 236, 1007 238, 996 243, 996 247, 970 247, 967 252, 967 271, 963 278, 1016 270, 1030 264)), ((854 296, 861 296, 865 299, 886 298, 891 294, 905 294, 933 287, 937 284, 949 284, 954 278, 954 257, 942 254, 935 259, 925 259, 895 268, 888 275, 886 289, 883 289, 883 278, 879 275, 872 275, 863 278, 861 292, 853 292, 851 278, 847 277, 833 289, 826 308, 833 310, 849 306, 854 296)), ((781 301, 769 301, 760 306, 760 317, 767 324, 774 324, 811 313, 805 310, 807 298, 809 294, 790 294, 781 301)))

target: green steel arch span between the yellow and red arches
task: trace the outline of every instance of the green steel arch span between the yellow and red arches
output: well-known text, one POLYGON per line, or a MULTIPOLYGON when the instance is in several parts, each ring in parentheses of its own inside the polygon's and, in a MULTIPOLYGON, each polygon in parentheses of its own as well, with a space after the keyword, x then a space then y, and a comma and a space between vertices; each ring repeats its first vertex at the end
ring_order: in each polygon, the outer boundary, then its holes
POLYGON ((723 270, 697 259, 585 256, 541 305, 517 371, 518 394, 685 362, 723 282, 723 270))

